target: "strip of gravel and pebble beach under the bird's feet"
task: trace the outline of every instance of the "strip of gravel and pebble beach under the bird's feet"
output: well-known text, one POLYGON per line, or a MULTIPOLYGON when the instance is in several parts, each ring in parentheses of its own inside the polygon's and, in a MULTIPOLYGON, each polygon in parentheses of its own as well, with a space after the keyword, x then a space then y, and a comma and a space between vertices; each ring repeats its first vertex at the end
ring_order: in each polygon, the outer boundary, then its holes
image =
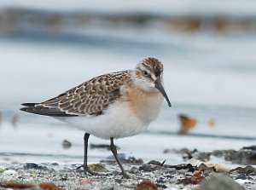
POLYGON ((143 164, 136 158, 123 162, 130 179, 120 175, 113 161, 90 164, 90 170, 99 173, 96 176, 84 175, 77 169, 79 164, 0 164, 0 189, 256 189, 256 169, 252 166, 224 170, 207 164, 143 164))

